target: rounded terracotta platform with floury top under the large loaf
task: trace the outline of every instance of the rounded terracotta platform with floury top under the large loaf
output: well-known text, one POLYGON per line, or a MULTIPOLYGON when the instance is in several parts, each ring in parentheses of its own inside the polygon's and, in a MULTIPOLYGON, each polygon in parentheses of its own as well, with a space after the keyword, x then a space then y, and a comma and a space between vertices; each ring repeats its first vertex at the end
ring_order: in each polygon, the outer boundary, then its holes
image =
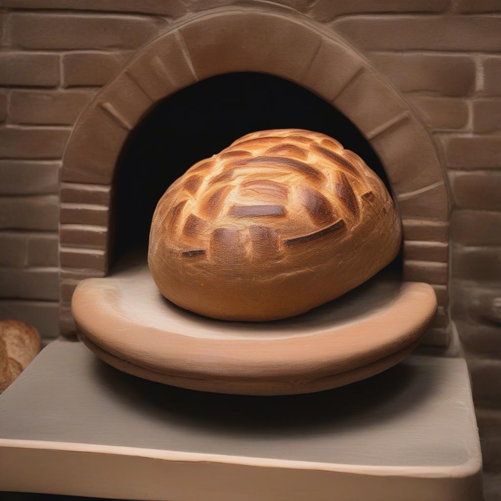
POLYGON ((224 322, 166 301, 145 264, 83 281, 73 315, 85 344, 133 375, 188 389, 246 395, 311 393, 395 365, 433 321, 428 284, 383 271, 307 314, 276 322, 224 322))

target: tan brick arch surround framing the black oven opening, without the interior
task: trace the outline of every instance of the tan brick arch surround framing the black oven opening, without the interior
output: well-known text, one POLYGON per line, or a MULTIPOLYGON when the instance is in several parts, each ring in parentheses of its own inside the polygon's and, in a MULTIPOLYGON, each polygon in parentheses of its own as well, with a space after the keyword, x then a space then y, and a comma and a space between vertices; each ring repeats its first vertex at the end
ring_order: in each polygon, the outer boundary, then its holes
POLYGON ((298 15, 262 9, 217 10, 172 25, 138 51, 78 119, 62 171, 63 332, 72 330, 69 302, 78 281, 107 273, 110 192, 129 132, 154 103, 177 90, 244 71, 273 74, 313 91, 369 140, 403 219, 404 278, 435 288, 441 308, 432 341, 443 344, 449 205, 431 138, 402 96, 335 33, 298 15))

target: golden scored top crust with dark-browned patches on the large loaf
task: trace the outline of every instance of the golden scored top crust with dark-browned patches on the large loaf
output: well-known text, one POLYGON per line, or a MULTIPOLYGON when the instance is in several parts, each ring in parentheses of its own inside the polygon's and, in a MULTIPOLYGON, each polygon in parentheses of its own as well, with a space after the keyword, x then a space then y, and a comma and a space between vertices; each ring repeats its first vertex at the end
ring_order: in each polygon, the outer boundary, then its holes
POLYGON ((327 234, 342 238, 361 211, 377 213, 374 190, 383 195, 381 210, 394 206, 381 180, 362 165, 324 134, 248 134, 170 186, 151 238, 160 244, 167 228, 164 236, 183 257, 216 260, 230 248, 251 259, 264 247, 285 252, 284 245, 327 234))

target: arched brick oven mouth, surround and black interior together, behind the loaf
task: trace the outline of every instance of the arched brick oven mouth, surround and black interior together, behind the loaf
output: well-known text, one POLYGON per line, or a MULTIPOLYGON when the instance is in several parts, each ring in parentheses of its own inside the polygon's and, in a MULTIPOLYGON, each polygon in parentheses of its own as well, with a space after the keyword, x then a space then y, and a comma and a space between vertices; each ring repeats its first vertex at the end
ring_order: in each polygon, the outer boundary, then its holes
POLYGON ((398 284, 433 290, 438 314, 424 342, 446 346, 447 179, 426 129, 344 40, 254 11, 173 26, 141 49, 79 117, 62 169, 62 331, 75 332, 73 293, 82 281, 113 282, 117 265, 138 245, 148 271, 151 215, 174 179, 241 134, 270 127, 325 132, 389 181, 403 229, 398 284), (255 37, 256 30, 267 36, 255 37), (204 44, 202 32, 210 33, 204 44))

